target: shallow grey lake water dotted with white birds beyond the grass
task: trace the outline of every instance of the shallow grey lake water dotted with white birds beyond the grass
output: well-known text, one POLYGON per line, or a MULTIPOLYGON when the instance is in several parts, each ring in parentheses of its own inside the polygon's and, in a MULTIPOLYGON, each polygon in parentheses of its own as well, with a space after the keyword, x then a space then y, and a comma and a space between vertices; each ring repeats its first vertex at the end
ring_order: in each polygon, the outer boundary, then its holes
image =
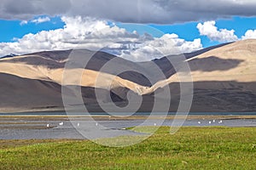
MULTIPOLYGON (((13 117, 6 116, 7 114, 0 114, 0 139, 84 139, 77 129, 78 126, 88 124, 88 120, 81 117, 73 118, 73 123, 68 118, 61 117, 65 113, 26 113, 12 114, 13 117), (5 115, 5 116, 4 116, 5 115), (55 116, 43 118, 43 116, 55 116), (17 117, 15 117, 17 116, 17 117), (18 117, 19 116, 19 117, 18 117), (27 117, 32 116, 32 117, 27 117), (35 117, 38 116, 38 117, 35 117), (78 123, 79 122, 79 123, 78 123)), ((99 114, 96 114, 99 115, 99 114)), ((103 115, 103 114, 102 114, 103 115)), ((137 115, 147 115, 146 113, 137 115)), ((172 113, 171 113, 172 115, 172 113)), ((198 113, 194 115, 209 115, 209 113, 198 113)), ((210 115, 256 115, 255 113, 210 113, 210 115)), ((96 125, 101 125, 102 132, 113 130, 122 135, 137 135, 137 133, 124 130, 125 127, 135 127, 142 123, 143 119, 133 120, 108 120, 98 119, 96 125)), ((157 119, 152 119, 146 122, 145 126, 172 126, 173 120, 165 120, 161 122, 157 119)), ((184 127, 209 127, 209 126, 226 126, 226 127, 256 127, 256 119, 187 119, 183 122, 184 127)), ((88 129, 90 131, 90 129, 88 129)))

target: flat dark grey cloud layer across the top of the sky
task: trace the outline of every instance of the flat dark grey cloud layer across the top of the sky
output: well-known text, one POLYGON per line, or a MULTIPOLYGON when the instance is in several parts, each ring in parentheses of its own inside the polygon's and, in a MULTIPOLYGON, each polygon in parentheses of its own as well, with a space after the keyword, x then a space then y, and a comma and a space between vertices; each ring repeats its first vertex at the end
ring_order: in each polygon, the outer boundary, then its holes
POLYGON ((2 0, 0 18, 31 20, 35 15, 90 16, 120 22, 161 23, 256 15, 253 0, 2 0))

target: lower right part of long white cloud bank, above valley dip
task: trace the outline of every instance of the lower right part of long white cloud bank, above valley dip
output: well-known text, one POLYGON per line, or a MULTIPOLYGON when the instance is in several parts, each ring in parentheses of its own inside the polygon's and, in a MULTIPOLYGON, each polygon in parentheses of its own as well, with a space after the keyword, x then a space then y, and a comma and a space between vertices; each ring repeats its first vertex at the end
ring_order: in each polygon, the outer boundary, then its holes
POLYGON ((129 44, 121 50, 119 56, 135 61, 159 59, 169 54, 189 53, 202 48, 201 39, 187 42, 176 34, 165 34, 162 37, 143 42, 129 44))

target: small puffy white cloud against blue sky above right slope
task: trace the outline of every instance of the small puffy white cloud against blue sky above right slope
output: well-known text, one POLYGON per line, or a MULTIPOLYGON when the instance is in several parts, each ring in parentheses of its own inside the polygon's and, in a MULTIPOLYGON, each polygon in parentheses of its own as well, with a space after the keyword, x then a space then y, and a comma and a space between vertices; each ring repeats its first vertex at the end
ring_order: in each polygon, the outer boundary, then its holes
POLYGON ((220 29, 215 26, 215 21, 207 21, 203 24, 199 23, 197 29, 201 36, 207 36, 212 41, 217 42, 233 42, 238 40, 234 30, 220 29))

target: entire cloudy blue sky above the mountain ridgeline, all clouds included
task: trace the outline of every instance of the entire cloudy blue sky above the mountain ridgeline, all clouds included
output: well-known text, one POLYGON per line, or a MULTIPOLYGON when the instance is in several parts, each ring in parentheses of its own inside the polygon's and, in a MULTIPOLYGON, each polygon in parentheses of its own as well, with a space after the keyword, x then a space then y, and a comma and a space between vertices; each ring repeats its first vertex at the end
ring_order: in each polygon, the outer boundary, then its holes
POLYGON ((256 0, 2 0, 0 56, 88 48, 144 61, 256 38, 256 0))

